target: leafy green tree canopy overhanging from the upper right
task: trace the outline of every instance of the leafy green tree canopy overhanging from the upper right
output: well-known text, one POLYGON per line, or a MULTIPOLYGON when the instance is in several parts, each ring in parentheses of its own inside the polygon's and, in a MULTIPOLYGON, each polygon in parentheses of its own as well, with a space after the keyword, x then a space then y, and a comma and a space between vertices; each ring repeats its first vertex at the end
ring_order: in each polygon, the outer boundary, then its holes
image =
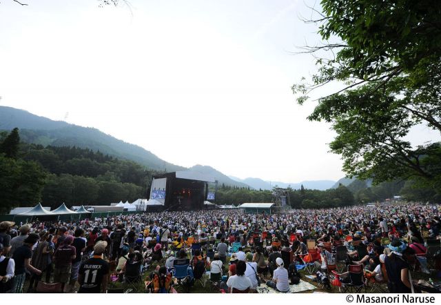
POLYGON ((327 83, 346 87, 320 97, 308 119, 332 124, 331 151, 342 155, 350 177, 374 184, 412 177, 441 191, 440 145, 415 148, 404 139, 418 124, 441 132, 441 2, 322 0, 321 6, 313 22, 327 43, 305 52, 334 56, 318 58, 311 83, 292 89, 302 104, 327 83))

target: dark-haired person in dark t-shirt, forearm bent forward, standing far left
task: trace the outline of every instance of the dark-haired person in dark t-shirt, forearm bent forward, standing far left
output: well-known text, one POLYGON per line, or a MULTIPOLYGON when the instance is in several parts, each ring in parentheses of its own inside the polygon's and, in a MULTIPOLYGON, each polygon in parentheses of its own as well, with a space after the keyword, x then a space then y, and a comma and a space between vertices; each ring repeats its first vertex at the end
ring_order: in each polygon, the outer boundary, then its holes
POLYGON ((39 241, 39 235, 31 233, 23 242, 23 246, 19 246, 14 251, 12 257, 15 262, 15 276, 14 285, 12 286, 12 293, 21 293, 26 279, 26 270, 36 275, 41 275, 41 270, 31 265, 32 247, 39 241))

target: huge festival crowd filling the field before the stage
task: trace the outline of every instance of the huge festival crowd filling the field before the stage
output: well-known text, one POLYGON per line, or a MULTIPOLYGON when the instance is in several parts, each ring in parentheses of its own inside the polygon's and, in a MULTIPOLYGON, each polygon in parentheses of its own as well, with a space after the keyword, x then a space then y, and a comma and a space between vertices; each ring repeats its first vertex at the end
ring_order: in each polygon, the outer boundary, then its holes
MULTIPOLYGON (((440 214, 438 205, 387 204, 271 215, 201 210, 1 222, 0 292, 57 284, 60 292, 100 293, 112 281, 136 282, 145 272, 148 291, 170 292, 174 269, 183 264, 194 279, 209 270, 209 280, 225 293, 254 292, 260 284, 287 292, 298 283, 300 266, 314 264, 326 275, 336 261, 333 249, 345 246, 347 264, 363 267, 366 284, 384 281, 387 273, 389 292, 406 293, 412 257, 427 253, 427 240, 439 244, 440 214)), ((338 274, 342 283, 346 278, 338 274)))

